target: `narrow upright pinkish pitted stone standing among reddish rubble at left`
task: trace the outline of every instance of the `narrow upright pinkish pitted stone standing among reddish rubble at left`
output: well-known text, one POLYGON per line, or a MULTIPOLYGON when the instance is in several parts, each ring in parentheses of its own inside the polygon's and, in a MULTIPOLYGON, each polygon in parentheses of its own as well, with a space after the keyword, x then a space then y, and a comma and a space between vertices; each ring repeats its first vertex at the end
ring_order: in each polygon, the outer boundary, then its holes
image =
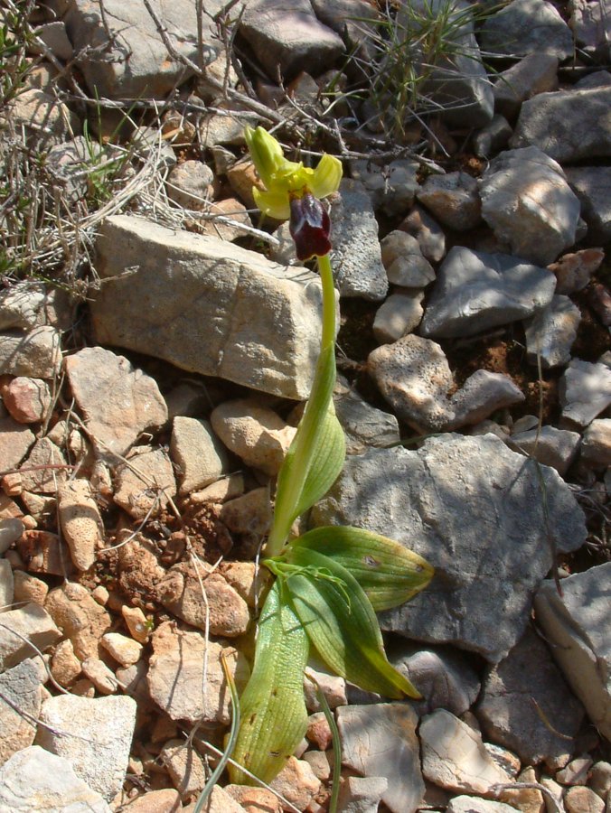
POLYGON ((104 544, 104 524, 89 481, 61 483, 57 491, 57 510, 72 562, 79 570, 89 570, 98 548, 104 544))

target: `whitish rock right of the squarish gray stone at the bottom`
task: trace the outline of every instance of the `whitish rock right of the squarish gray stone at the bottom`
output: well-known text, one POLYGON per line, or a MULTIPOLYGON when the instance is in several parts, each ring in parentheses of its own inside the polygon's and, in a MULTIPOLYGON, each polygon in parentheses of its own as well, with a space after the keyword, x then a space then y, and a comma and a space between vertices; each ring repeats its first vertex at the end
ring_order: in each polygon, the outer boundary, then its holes
POLYGON ((447 790, 494 795, 494 785, 510 780, 484 748, 480 734, 445 709, 420 724, 422 771, 447 790))

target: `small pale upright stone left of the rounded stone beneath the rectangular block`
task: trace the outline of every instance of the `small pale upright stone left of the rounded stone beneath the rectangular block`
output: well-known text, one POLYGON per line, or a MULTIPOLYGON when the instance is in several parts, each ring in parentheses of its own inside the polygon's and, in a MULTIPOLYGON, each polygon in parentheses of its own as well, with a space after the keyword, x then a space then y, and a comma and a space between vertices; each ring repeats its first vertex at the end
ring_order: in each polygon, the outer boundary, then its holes
POLYGON ((180 491, 188 494, 219 480, 229 459, 206 420, 175 417, 170 453, 179 471, 180 491))

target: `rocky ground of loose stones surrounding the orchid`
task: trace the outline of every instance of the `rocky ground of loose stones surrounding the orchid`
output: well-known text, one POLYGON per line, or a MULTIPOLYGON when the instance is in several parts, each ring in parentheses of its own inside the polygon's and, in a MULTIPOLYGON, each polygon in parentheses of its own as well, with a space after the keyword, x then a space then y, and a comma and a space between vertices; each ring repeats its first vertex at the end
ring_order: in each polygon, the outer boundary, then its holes
MULTIPOLYGON (((381 613, 423 701, 308 668, 339 809, 609 813, 608 9, 461 13, 410 118, 376 79, 407 5, 212 5, 199 31, 189 0, 2 12, 0 811, 193 813, 222 749, 320 327, 253 208, 259 123, 344 164, 349 455, 304 523, 436 568, 381 613)), ((327 809, 305 693, 271 788, 221 780, 204 809, 327 809)))

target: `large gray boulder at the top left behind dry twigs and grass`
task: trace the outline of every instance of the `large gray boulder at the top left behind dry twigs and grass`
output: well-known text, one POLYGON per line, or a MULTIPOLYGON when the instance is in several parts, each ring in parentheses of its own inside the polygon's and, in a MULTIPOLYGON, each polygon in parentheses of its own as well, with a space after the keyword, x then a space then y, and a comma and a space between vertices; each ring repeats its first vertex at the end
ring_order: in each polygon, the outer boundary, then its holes
MULTIPOLYGON (((196 5, 191 0, 151 0, 174 50, 202 66, 220 51, 219 41, 212 35, 212 17, 222 5, 218 0, 206 2, 200 47, 196 5)), ((70 0, 65 17, 79 54, 79 68, 91 92, 108 98, 162 98, 193 74, 168 54, 144 3, 104 0, 103 12, 99 3, 70 0)))

